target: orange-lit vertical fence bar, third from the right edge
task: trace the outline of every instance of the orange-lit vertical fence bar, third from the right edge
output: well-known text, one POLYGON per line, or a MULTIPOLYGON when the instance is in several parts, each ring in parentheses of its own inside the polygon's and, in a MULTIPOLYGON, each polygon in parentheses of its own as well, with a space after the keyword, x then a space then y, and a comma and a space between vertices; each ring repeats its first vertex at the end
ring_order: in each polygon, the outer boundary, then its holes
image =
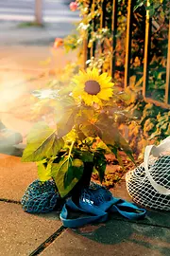
POLYGON ((127 3, 127 42, 126 42, 126 60, 125 60, 125 88, 129 84, 130 58, 131 58, 131 33, 132 33, 132 0, 127 3))

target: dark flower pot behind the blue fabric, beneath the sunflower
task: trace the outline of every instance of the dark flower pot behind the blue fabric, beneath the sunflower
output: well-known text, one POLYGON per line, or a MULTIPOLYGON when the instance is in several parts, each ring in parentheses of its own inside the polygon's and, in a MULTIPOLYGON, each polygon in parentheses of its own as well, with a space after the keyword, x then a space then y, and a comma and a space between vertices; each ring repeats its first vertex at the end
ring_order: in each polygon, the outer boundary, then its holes
POLYGON ((83 189, 87 189, 90 186, 91 177, 93 174, 93 162, 84 163, 84 172, 76 183, 76 186, 71 191, 72 199, 77 204, 79 202, 79 196, 83 189))

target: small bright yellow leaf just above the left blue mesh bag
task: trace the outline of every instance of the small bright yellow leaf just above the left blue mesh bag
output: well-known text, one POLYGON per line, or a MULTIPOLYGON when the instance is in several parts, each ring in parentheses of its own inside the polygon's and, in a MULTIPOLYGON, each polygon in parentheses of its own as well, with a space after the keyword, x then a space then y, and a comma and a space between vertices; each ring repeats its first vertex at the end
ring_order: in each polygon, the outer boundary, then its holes
POLYGON ((49 180, 52 177, 51 175, 52 161, 47 162, 46 159, 43 159, 42 161, 39 161, 36 164, 37 164, 39 179, 42 182, 49 180))

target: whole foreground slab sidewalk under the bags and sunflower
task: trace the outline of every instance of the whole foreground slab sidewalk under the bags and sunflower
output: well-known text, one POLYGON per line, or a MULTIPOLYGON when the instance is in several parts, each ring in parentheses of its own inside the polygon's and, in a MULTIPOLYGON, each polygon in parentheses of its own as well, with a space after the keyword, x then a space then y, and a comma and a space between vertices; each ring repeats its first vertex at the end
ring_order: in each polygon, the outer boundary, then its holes
MULTIPOLYGON (((112 214, 103 224, 64 229, 58 211, 28 214, 22 210, 21 197, 36 178, 33 163, 0 155, 0 255, 170 255, 169 212, 148 211, 145 219, 138 222, 112 214)), ((112 192, 130 200, 124 181, 112 192)))

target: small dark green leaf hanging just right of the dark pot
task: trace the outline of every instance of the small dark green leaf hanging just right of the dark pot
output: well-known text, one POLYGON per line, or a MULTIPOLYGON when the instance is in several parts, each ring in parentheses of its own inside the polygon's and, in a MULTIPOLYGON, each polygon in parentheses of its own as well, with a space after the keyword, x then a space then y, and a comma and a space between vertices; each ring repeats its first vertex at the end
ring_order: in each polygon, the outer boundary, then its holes
POLYGON ((94 168, 98 172, 100 182, 102 183, 105 176, 106 166, 107 166, 107 160, 105 155, 100 152, 95 152, 94 158, 93 158, 93 164, 94 164, 94 168))

